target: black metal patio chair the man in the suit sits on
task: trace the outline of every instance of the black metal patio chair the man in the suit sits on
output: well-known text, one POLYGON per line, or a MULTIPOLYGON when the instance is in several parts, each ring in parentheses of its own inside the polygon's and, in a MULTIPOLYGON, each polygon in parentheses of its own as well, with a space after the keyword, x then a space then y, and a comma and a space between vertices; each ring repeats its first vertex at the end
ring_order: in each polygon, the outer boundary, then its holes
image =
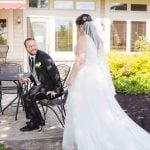
POLYGON ((64 91, 56 94, 54 98, 51 98, 49 95, 46 95, 45 93, 40 92, 36 94, 35 99, 42 106, 45 120, 46 120, 46 114, 49 108, 56 115, 62 127, 64 127, 65 115, 66 115, 64 105, 66 103, 66 99, 68 96, 68 89, 65 85, 65 81, 69 75, 70 66, 65 65, 65 64, 60 64, 57 67, 60 73, 61 82, 64 87, 64 91))

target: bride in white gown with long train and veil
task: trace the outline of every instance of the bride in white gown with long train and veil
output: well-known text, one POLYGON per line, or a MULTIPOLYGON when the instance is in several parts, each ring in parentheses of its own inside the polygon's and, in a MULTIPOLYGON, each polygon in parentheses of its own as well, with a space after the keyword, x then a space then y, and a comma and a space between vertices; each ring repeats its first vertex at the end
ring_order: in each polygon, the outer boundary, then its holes
POLYGON ((76 19, 80 38, 67 80, 63 150, 150 150, 150 135, 123 111, 105 63, 102 38, 92 18, 76 19))

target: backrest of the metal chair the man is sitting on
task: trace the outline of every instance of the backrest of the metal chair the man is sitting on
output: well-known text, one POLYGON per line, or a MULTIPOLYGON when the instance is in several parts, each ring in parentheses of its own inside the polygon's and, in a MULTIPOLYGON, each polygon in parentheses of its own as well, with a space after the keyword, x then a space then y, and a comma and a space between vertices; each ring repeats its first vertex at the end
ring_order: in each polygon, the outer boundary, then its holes
POLYGON ((65 65, 65 64, 59 64, 57 65, 57 68, 60 74, 62 85, 65 86, 66 79, 70 72, 70 66, 65 65))

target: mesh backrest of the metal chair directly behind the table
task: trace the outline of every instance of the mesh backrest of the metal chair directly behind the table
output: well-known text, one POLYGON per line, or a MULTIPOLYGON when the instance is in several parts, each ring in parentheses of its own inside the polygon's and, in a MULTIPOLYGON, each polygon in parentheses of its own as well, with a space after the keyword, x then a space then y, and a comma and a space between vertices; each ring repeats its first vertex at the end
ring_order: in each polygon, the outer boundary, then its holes
POLYGON ((0 64, 1 73, 21 73, 21 65, 16 63, 3 63, 0 64))

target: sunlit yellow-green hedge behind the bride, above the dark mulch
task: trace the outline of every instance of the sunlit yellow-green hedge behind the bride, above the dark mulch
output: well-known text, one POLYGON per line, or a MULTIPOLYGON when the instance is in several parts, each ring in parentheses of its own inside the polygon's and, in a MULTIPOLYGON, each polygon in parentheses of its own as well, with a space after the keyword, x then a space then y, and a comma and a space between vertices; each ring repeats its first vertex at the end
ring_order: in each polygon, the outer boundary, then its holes
POLYGON ((150 52, 108 56, 110 71, 117 92, 150 94, 150 52))

